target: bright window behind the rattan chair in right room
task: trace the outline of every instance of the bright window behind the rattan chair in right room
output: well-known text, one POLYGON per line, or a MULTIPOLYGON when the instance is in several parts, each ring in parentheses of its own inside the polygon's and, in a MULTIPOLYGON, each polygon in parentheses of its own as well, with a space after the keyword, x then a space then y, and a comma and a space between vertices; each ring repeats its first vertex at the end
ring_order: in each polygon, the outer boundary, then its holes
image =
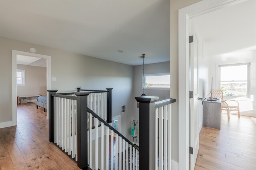
POLYGON ((224 96, 250 96, 250 63, 220 67, 220 89, 224 96))

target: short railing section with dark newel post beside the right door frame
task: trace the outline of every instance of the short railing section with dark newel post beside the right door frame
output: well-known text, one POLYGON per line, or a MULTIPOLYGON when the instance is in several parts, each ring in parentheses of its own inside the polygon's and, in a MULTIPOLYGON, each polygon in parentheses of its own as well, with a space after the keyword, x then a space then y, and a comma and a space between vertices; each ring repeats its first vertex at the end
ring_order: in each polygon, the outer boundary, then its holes
POLYGON ((171 170, 171 104, 176 100, 135 99, 139 102, 140 170, 171 170))

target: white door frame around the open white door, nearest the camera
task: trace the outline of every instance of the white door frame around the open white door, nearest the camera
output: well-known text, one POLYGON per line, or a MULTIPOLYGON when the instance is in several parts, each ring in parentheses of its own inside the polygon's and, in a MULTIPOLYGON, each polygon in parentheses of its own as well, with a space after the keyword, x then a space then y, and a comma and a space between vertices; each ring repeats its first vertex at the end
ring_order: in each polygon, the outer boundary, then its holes
POLYGON ((202 0, 178 11, 179 170, 189 170, 189 20, 244 1, 202 0))

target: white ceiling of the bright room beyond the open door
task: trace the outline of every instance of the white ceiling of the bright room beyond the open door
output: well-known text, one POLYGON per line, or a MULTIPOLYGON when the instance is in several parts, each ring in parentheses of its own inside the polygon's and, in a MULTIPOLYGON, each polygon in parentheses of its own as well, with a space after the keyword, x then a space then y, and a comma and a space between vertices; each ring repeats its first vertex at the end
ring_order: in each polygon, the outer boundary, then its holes
POLYGON ((210 56, 256 49, 256 0, 195 18, 210 56))

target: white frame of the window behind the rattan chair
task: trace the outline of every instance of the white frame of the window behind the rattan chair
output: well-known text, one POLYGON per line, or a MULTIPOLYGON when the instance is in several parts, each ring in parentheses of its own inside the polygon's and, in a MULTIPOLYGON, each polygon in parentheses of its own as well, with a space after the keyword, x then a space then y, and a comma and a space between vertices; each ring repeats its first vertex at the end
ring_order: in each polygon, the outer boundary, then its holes
MULTIPOLYGON (((236 64, 219 64, 219 86, 221 87, 221 82, 247 82, 247 92, 246 92, 246 97, 250 98, 250 69, 251 69, 251 63, 236 63, 236 64), (227 66, 244 66, 247 65, 247 80, 232 80, 232 81, 221 81, 221 67, 227 67, 227 66)), ((223 95, 224 96, 224 95, 223 95)), ((242 96, 237 96, 237 97, 242 97, 242 96)))

